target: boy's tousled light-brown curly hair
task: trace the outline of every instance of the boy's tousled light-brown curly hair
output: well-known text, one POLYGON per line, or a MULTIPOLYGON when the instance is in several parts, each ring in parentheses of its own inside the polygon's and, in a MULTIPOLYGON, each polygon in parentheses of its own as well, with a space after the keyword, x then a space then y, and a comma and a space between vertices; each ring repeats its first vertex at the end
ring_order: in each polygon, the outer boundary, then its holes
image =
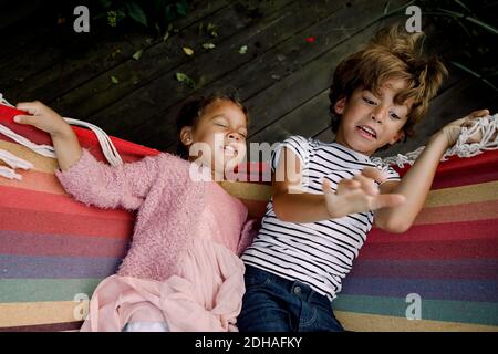
POLYGON ((329 93, 332 132, 338 132, 341 119, 334 110, 339 100, 349 98, 359 86, 378 93, 386 80, 402 79, 407 82, 407 87, 396 95, 395 102, 403 104, 408 98, 414 100, 403 127, 405 137, 414 134, 414 125, 426 114, 429 100, 448 73, 436 56, 423 54, 423 32, 408 33, 400 24, 387 27, 339 63, 329 93))

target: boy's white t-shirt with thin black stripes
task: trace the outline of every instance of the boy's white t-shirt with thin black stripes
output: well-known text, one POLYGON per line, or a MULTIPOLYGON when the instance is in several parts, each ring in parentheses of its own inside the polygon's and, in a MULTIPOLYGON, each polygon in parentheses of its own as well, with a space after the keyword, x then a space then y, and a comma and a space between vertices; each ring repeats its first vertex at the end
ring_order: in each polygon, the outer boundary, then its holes
MULTIPOLYGON (((366 166, 382 168, 387 180, 400 180, 393 168, 375 165, 366 155, 338 143, 325 144, 301 136, 291 136, 274 149, 273 171, 283 147, 301 160, 301 187, 305 192, 323 194, 323 178, 328 178, 335 190, 342 178, 351 178, 366 166)), ((271 199, 261 230, 242 260, 246 264, 309 284, 332 300, 341 291, 342 280, 350 272, 372 223, 372 211, 318 222, 287 222, 277 218, 271 199)))

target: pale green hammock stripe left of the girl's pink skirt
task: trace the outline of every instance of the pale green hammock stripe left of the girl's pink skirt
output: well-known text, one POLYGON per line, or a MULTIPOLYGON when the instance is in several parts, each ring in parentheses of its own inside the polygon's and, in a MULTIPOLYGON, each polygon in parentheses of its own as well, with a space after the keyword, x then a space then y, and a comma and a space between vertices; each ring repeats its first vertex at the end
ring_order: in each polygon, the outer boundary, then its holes
POLYGON ((72 301, 76 294, 89 299, 102 279, 1 279, 0 303, 72 301))

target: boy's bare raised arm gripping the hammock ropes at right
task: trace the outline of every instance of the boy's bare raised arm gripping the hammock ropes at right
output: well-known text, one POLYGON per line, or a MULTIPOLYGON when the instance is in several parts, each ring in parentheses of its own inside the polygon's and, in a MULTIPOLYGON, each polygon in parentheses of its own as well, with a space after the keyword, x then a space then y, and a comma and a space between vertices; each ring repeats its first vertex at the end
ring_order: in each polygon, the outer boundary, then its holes
MULTIPOLYGON (((376 210, 374 220, 378 228, 397 233, 409 229, 425 204, 437 166, 446 149, 457 142, 463 126, 469 124, 471 119, 488 114, 487 110, 475 111, 465 118, 444 126, 430 137, 422 154, 401 181, 387 181, 381 185, 382 194, 400 194, 406 198, 406 201, 394 208, 376 210)), ((480 137, 473 136, 470 142, 475 140, 480 140, 480 137)))

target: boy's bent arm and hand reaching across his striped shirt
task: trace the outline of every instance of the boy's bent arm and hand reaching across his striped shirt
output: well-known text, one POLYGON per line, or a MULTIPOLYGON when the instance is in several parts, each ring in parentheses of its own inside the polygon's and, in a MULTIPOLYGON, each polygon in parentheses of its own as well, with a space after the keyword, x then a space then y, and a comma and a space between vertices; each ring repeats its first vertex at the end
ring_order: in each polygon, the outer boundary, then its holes
POLYGON ((323 183, 323 195, 303 192, 300 159, 288 148, 283 148, 272 178, 274 214, 279 219, 289 222, 341 218, 404 201, 402 196, 380 195, 373 180, 382 179, 383 176, 375 168, 365 168, 352 179, 342 179, 335 192, 330 189, 328 181, 323 183))

